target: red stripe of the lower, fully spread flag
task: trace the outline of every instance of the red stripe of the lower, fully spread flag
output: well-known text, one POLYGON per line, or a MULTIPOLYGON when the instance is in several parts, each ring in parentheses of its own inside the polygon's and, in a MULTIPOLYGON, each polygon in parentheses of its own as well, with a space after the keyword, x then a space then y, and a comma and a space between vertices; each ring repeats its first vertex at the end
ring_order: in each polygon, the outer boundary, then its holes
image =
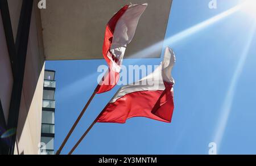
MULTIPOLYGON (((153 120, 171 122, 174 109, 173 101, 158 103, 165 91, 137 91, 122 96, 114 103, 109 103, 98 122, 125 123, 132 117, 147 117, 153 120), (164 106, 164 108, 160 108, 164 106), (161 117, 151 113, 155 109, 161 117)), ((172 98, 170 98, 172 99, 172 98)))

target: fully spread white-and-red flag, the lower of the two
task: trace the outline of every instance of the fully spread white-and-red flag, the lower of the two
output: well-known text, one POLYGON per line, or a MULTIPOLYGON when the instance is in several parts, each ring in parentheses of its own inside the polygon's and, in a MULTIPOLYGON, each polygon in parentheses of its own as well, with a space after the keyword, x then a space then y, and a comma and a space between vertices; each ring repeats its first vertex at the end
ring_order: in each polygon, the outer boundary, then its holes
POLYGON ((174 52, 166 48, 160 66, 138 82, 120 88, 102 110, 97 122, 123 124, 132 117, 171 122, 174 110, 171 71, 174 63, 174 52))

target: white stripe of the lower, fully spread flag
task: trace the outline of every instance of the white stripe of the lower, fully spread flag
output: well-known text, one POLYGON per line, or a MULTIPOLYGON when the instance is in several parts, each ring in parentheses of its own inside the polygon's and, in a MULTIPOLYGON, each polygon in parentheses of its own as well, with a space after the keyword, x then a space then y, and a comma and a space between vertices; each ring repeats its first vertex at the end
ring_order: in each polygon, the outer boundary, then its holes
POLYGON ((146 77, 142 78, 136 83, 123 86, 115 93, 110 103, 114 103, 116 100, 127 95, 128 93, 138 91, 163 91, 165 90, 164 82, 174 84, 174 79, 171 76, 171 70, 175 63, 174 52, 170 48, 166 48, 164 53, 164 59, 161 65, 155 69, 155 71, 146 77))

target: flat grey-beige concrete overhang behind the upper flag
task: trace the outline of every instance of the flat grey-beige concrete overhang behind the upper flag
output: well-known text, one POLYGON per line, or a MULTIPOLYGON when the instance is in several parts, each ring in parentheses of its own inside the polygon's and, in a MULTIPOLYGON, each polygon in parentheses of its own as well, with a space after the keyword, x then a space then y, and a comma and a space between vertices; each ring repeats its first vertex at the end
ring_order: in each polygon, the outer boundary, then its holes
MULTIPOLYGON (((51 0, 42 9, 44 53, 47 60, 101 59, 106 24, 123 5, 148 3, 125 58, 163 41, 172 0, 51 0)), ((157 52, 133 58, 159 58, 157 52)))

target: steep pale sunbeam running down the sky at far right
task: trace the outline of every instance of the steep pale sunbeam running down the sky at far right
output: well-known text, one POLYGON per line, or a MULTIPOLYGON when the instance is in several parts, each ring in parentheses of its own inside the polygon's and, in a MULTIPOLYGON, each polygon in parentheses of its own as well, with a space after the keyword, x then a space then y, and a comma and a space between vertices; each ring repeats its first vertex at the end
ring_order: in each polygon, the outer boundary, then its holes
POLYGON ((218 146, 217 151, 220 150, 220 147, 221 147, 222 138, 224 136, 226 125, 228 123, 229 115, 232 109, 234 94, 236 92, 238 79, 240 78, 241 73, 243 71, 243 67, 245 66, 246 58, 248 56, 250 46, 251 46, 251 41, 253 40, 253 37, 254 37, 255 27, 256 27, 255 25, 256 24, 254 23, 248 34, 249 35, 248 40, 246 41, 245 48, 243 48, 241 57, 238 60, 237 68, 234 71, 232 80, 228 88, 228 92, 226 93, 224 103, 222 104, 222 107, 221 107, 220 120, 217 123, 218 126, 216 127, 216 133, 214 135, 214 142, 218 146))

